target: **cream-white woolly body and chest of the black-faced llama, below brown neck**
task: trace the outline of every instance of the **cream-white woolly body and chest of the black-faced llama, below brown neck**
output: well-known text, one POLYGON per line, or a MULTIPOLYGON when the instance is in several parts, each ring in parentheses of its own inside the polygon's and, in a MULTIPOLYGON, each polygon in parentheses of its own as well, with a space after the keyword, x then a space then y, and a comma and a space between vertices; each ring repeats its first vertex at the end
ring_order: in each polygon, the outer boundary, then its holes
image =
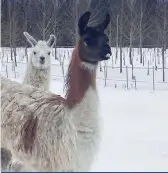
POLYGON ((13 157, 21 161, 29 171, 88 171, 100 135, 95 89, 89 86, 81 103, 70 109, 64 106, 64 99, 49 92, 14 84, 7 79, 2 80, 2 89, 3 85, 12 86, 12 90, 5 89, 5 95, 2 90, 2 124, 5 125, 2 127, 2 146, 4 144, 10 149, 13 157), (8 112, 10 108, 13 109, 11 114, 8 112), (19 146, 20 132, 28 117, 37 117, 38 121, 32 154, 29 150, 27 154, 24 148, 22 151, 23 146, 19 146), (6 131, 8 134, 5 134, 6 131))

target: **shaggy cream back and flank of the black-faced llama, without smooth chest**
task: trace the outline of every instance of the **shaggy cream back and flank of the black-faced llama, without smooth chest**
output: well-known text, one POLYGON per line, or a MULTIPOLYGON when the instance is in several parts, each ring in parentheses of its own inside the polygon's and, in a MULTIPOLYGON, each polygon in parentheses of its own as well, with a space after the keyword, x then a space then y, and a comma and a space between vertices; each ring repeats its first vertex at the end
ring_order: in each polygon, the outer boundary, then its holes
POLYGON ((65 113, 64 99, 3 79, 6 83, 13 87, 3 88, 1 96, 2 146, 10 148, 29 171, 73 170, 76 129, 73 117, 65 113))

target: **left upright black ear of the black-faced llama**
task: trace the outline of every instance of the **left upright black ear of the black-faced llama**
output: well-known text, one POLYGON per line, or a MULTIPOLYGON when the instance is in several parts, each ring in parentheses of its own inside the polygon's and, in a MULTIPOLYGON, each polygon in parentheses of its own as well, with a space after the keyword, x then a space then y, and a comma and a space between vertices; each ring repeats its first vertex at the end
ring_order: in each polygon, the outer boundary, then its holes
POLYGON ((89 22, 90 15, 91 15, 91 12, 87 11, 79 18, 79 21, 78 21, 79 35, 84 34, 84 31, 89 22))

